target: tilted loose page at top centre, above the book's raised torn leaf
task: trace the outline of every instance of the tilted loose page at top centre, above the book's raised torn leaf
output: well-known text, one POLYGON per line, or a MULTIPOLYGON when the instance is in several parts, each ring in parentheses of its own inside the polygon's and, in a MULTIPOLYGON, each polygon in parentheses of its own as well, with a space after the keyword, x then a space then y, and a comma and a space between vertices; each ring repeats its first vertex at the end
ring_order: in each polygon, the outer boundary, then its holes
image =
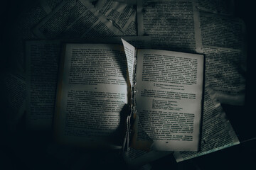
POLYGON ((95 7, 112 21, 124 35, 137 35, 136 6, 117 1, 100 0, 95 7))

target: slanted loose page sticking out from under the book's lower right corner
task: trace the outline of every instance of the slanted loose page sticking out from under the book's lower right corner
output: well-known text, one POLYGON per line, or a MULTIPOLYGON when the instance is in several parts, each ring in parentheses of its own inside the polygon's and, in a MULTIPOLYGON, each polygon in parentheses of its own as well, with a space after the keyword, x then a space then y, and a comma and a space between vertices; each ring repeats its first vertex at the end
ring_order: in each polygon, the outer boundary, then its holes
POLYGON ((228 118, 220 103, 215 98, 215 93, 206 83, 203 108, 203 129, 200 152, 174 152, 177 162, 193 157, 218 151, 226 147, 238 145, 239 140, 235 135, 228 118))

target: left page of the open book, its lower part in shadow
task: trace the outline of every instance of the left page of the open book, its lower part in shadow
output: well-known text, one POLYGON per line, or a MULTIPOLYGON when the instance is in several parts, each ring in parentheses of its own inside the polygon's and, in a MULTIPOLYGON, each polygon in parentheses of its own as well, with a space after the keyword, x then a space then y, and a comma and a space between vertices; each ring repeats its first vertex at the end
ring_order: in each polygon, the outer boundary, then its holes
POLYGON ((120 148, 126 132, 127 60, 122 46, 67 44, 60 62, 55 139, 120 148))

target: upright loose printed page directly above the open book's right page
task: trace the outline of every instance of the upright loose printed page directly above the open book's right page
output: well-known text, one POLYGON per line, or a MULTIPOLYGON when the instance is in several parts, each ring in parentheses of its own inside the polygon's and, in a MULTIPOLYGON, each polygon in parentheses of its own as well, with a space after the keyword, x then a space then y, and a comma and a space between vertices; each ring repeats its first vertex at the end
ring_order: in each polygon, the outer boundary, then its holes
POLYGON ((138 35, 150 35, 159 50, 201 53, 201 31, 196 1, 137 2, 138 35))

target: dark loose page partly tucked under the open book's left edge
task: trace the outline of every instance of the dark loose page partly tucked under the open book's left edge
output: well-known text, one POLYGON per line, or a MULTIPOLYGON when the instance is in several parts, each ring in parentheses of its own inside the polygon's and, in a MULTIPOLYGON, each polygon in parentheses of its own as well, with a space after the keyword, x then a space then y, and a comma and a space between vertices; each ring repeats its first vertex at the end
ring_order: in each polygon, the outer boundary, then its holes
POLYGON ((58 40, 26 42, 26 126, 30 130, 52 128, 59 57, 58 40))

